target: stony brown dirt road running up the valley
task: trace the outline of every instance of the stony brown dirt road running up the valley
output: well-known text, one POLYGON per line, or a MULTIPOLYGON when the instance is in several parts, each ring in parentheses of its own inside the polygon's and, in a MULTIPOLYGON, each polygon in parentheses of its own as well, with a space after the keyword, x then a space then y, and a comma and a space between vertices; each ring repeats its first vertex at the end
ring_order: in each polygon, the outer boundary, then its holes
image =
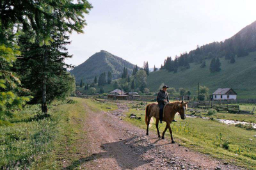
POLYGON ((89 156, 80 160, 81 169, 239 169, 195 151, 157 138, 156 132, 134 127, 120 119, 127 107, 118 104, 113 112, 92 112, 84 139, 89 156))

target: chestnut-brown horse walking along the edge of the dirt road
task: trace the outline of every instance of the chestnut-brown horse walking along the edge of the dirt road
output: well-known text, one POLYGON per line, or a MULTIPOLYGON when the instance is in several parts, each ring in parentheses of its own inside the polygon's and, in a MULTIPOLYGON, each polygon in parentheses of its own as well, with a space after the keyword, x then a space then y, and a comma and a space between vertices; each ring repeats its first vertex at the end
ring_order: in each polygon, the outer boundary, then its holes
MULTIPOLYGON (((166 122, 166 127, 164 129, 164 132, 162 134, 162 139, 164 139, 164 133, 166 132, 167 128, 169 128, 170 134, 171 134, 171 139, 172 139, 172 143, 175 143, 173 141, 173 137, 172 137, 172 129, 170 126, 170 123, 172 123, 172 121, 174 120, 175 114, 177 112, 179 112, 180 114, 180 118, 182 120, 186 119, 186 114, 185 111, 188 107, 188 102, 172 102, 169 104, 164 105, 164 112, 163 112, 163 121, 166 122)), ((159 123, 159 106, 158 104, 154 103, 154 104, 148 104, 146 107, 146 115, 145 115, 145 122, 147 125, 147 135, 148 135, 148 126, 150 123, 151 118, 154 117, 156 118, 156 129, 157 129, 157 135, 160 138, 160 132, 158 129, 158 123, 159 123)))

